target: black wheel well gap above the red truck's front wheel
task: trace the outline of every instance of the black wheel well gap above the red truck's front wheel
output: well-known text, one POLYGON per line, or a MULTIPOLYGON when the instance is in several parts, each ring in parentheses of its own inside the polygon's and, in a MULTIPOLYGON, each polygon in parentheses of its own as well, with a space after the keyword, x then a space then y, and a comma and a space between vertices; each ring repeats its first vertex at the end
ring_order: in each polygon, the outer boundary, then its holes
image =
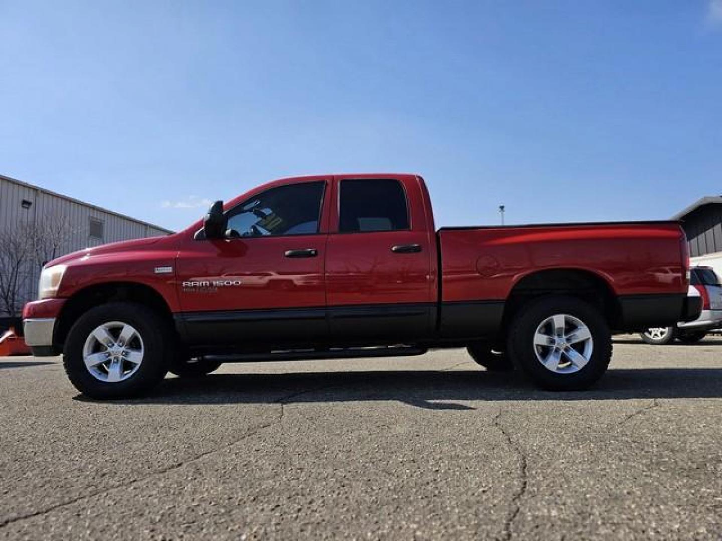
POLYGON ((82 289, 68 299, 60 313, 53 343, 62 346, 71 327, 87 310, 115 301, 144 304, 169 321, 173 320, 165 299, 152 287, 133 282, 102 283, 82 289))

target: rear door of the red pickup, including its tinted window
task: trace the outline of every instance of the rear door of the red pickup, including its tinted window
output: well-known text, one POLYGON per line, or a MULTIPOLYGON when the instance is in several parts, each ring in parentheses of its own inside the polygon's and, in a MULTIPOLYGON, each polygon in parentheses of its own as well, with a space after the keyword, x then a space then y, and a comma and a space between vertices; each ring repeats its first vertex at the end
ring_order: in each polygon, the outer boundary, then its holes
POLYGON ((417 179, 334 179, 326 245, 331 337, 379 343, 428 337, 435 314, 432 252, 417 179), (415 211, 414 211, 415 208, 415 211))

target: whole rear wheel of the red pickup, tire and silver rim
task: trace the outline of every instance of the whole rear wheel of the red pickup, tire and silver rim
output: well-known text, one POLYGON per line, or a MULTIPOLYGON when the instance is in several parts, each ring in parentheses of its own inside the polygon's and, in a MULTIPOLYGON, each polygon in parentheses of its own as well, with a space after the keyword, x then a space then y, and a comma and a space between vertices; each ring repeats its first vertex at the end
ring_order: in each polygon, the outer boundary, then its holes
POLYGON ((510 326, 507 351, 540 387, 583 390, 609 366, 612 334, 591 304, 571 296, 547 296, 518 312, 510 326))

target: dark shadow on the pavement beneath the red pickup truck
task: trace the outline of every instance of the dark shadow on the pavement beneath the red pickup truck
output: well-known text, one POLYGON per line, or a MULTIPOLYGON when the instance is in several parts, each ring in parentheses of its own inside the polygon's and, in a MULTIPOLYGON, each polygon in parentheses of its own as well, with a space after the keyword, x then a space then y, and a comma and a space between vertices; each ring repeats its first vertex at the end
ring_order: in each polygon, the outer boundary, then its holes
MULTIPOLYGON (((166 378, 153 395, 123 404, 297 404, 394 400, 429 410, 473 410, 469 402, 593 401, 722 397, 722 369, 609 369, 591 390, 548 392, 516 373, 482 369, 211 374, 166 378)), ((87 400, 80 395, 77 400, 87 400)))

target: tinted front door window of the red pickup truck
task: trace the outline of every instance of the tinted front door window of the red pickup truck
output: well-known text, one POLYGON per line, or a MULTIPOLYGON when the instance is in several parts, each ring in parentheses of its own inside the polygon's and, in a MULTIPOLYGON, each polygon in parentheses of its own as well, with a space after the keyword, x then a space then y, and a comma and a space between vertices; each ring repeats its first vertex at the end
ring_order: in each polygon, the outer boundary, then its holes
POLYGON ((325 182, 271 188, 240 203, 228 214, 228 229, 241 237, 318 232, 325 182))

